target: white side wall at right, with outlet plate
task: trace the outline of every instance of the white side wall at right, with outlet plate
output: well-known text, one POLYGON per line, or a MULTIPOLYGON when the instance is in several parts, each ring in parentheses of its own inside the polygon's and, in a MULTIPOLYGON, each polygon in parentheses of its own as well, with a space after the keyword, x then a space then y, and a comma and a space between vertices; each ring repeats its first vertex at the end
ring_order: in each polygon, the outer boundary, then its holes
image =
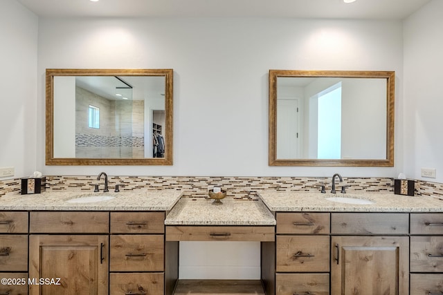
POLYGON ((404 166, 406 175, 443 182, 443 1, 404 21, 404 166), (437 169, 422 178, 420 169, 437 169))

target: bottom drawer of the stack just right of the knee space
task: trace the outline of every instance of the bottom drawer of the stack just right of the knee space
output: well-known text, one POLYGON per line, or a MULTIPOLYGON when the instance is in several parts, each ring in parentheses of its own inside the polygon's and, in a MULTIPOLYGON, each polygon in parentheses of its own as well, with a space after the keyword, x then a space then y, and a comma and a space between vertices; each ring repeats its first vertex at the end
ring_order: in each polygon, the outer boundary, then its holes
POLYGON ((275 274, 275 295, 329 295, 329 274, 275 274))

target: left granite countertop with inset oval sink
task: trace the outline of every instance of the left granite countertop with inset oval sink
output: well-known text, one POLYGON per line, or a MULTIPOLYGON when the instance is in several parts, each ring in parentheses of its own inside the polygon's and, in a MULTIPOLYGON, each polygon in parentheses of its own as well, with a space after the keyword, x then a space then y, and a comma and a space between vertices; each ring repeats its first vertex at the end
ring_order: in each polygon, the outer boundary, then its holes
POLYGON ((137 190, 120 193, 82 191, 45 191, 31 195, 12 194, 0 198, 0 210, 60 211, 168 211, 181 198, 183 191, 137 190), (89 196, 116 196, 112 200, 71 203, 67 200, 89 196))

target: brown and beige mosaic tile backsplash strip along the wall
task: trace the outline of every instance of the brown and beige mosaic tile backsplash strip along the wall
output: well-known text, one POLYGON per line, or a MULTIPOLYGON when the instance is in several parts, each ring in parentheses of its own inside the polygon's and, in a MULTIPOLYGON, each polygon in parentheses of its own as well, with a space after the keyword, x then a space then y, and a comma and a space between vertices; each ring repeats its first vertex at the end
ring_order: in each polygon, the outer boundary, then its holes
MULTIPOLYGON (((94 184, 103 189, 103 178, 97 176, 46 176, 46 190, 93 191, 94 184)), ((208 198, 208 189, 220 186, 228 191, 228 197, 235 199, 256 199, 257 191, 275 189, 278 191, 320 191, 325 185, 326 191, 331 189, 331 178, 299 178, 299 177, 205 177, 205 176, 109 176, 109 190, 113 191, 120 184, 120 191, 136 189, 175 189, 184 191, 183 197, 208 198)), ((348 193, 359 191, 392 191, 392 178, 343 178, 348 193)), ((341 188, 342 183, 337 184, 341 188)), ((18 193, 20 180, 0 180, 0 197, 6 193, 18 193)), ((415 182, 417 196, 443 196, 443 184, 437 182, 415 182)))

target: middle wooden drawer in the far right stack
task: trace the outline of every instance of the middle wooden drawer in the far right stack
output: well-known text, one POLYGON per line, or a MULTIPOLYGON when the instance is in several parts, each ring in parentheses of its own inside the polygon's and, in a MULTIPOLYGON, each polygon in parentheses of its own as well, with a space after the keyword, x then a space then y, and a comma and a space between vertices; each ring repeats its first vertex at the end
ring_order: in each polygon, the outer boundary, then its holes
POLYGON ((443 236, 410 237, 410 272, 443 272, 443 236))

